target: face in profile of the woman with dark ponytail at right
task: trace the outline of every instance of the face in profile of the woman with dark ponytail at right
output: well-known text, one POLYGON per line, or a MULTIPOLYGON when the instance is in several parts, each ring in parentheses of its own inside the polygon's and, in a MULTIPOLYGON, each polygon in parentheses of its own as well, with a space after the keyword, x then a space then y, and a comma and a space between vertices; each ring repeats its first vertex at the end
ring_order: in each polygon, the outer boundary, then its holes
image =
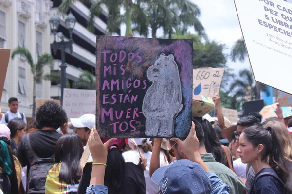
POLYGON ((254 148, 252 143, 245 139, 244 133, 239 137, 239 147, 237 149, 242 163, 253 163, 256 161, 257 148, 254 148))

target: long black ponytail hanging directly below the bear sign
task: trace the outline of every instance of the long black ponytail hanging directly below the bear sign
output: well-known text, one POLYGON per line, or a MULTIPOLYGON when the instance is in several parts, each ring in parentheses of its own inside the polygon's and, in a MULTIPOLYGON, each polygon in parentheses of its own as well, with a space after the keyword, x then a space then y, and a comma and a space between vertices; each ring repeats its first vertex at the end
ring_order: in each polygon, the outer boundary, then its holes
POLYGON ((122 154, 112 148, 108 153, 105 171, 105 185, 112 188, 114 193, 124 191, 125 160, 122 154))

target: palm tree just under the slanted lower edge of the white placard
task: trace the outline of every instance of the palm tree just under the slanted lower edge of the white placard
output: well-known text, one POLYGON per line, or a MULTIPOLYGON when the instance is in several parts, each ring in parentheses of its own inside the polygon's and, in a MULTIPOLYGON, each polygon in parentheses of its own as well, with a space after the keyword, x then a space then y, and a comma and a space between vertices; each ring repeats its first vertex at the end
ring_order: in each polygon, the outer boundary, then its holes
POLYGON ((239 77, 242 79, 234 80, 229 89, 229 92, 234 93, 231 99, 231 106, 233 108, 237 106, 238 99, 245 98, 246 96, 250 96, 251 100, 259 99, 260 94, 258 91, 265 92, 268 97, 271 95, 266 85, 261 83, 255 84, 253 74, 248 69, 240 70, 239 77))

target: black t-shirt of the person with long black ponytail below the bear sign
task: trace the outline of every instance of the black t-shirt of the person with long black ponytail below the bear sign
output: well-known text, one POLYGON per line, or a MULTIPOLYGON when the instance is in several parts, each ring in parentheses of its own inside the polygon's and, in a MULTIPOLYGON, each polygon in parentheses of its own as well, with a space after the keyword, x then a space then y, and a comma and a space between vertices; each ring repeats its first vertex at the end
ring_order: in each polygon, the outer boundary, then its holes
MULTIPOLYGON (((92 163, 86 163, 78 186, 78 194, 86 193, 86 188, 90 184, 91 170, 92 163)), ((113 189, 106 182, 105 186, 108 187, 109 194, 114 194, 113 189)), ((124 191, 120 191, 119 194, 146 194, 144 172, 140 166, 132 162, 125 163, 124 191)))

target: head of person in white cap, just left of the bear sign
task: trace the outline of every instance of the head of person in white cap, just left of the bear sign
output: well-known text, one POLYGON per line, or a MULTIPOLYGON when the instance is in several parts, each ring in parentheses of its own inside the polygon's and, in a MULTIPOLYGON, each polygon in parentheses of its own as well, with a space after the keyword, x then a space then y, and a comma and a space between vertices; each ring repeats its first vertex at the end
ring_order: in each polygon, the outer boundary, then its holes
POLYGON ((80 136, 83 146, 86 146, 90 129, 95 125, 95 115, 84 114, 79 118, 71 118, 70 121, 74 127, 74 132, 80 136))

